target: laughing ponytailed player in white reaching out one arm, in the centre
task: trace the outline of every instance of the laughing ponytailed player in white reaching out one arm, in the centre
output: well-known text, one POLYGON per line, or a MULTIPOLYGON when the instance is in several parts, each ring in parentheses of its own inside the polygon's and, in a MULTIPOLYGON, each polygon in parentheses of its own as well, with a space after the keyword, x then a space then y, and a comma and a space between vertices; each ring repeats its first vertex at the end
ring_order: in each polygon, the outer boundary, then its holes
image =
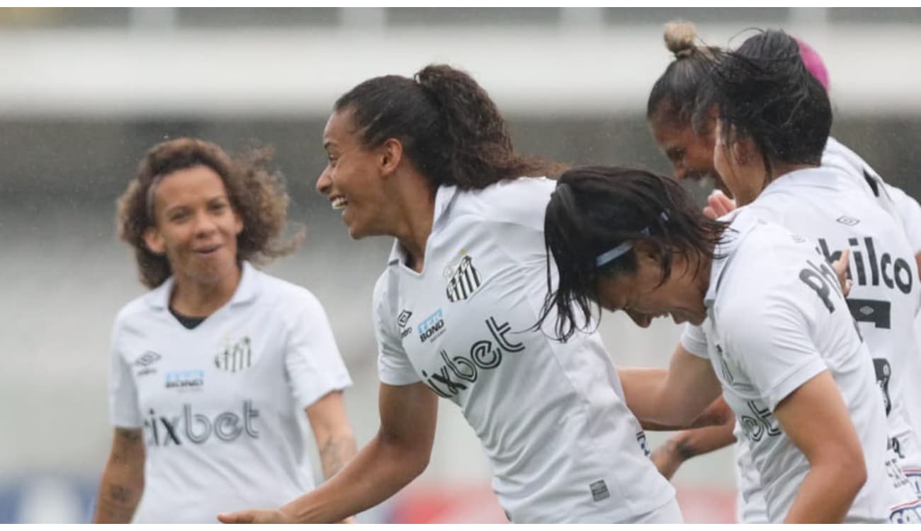
POLYGON ((440 397, 510 521, 680 522, 598 334, 533 329, 554 182, 526 176, 553 168, 515 154, 484 89, 446 65, 375 77, 336 101, 323 142, 317 188, 351 237, 396 238, 373 303, 379 433, 316 491, 220 520, 334 522, 386 500, 426 468, 440 397))

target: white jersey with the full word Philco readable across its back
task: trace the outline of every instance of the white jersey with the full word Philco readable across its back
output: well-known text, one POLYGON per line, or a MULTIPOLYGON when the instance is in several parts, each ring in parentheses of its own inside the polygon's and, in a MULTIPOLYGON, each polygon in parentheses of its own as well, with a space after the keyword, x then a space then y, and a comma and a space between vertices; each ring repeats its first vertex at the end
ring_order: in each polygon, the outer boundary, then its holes
MULTIPOLYGON (((775 179, 747 210, 816 240, 828 261, 837 260, 840 249, 850 248, 854 285, 847 304, 873 357, 886 404, 891 456, 901 477, 921 468, 921 444, 905 385, 915 379, 909 360, 921 356, 914 327, 921 288, 903 227, 855 184, 835 168, 801 169, 775 179)), ((857 183, 861 184, 866 186, 857 183)), ((904 519, 921 522, 914 509, 898 511, 904 519)))

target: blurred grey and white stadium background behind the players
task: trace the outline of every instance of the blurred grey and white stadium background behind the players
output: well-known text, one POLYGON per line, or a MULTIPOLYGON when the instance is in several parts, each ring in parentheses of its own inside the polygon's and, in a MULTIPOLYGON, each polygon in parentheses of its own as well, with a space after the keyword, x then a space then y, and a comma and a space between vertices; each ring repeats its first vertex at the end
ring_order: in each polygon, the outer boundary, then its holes
MULTIPOLYGON (((0 523, 88 520, 111 441, 111 321, 142 292, 114 199, 149 145, 274 146, 309 237, 268 271, 326 306, 364 444, 378 427, 369 301, 391 241, 351 241, 313 190, 332 101, 373 75, 451 63, 493 95, 521 151, 668 172, 644 113, 676 17, 710 44, 751 27, 810 42, 831 73, 834 134, 921 196, 917 8, 0 8, 0 523)), ((610 315, 601 330, 617 364, 666 364, 679 334, 610 315)), ((503 520, 475 436, 449 402, 440 415, 424 476, 362 522, 503 520)), ((680 470, 689 521, 733 521, 731 461, 723 450, 680 470)))

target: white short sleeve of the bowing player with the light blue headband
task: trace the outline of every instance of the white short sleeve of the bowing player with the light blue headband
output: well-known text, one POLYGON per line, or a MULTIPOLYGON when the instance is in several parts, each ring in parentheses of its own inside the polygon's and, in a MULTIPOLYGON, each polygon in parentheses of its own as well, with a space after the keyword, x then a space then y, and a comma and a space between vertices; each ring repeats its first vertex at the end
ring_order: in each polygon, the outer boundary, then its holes
MULTIPOLYGON (((827 370, 810 324, 791 294, 760 294, 758 307, 727 308, 717 326, 723 352, 735 359, 772 411, 781 400, 827 370)), ((752 300, 758 299, 749 299, 752 300)))

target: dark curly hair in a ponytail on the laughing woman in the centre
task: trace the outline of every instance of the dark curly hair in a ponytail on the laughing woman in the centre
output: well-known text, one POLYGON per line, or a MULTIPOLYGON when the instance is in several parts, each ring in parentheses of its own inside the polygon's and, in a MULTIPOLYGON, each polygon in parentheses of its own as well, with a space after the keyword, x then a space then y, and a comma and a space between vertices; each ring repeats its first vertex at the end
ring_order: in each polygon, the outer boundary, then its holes
POLYGON ((368 79, 336 100, 333 110, 352 111, 366 148, 400 140, 433 189, 476 190, 559 171, 554 163, 516 154, 506 121, 483 87, 446 64, 429 64, 412 79, 368 79))

